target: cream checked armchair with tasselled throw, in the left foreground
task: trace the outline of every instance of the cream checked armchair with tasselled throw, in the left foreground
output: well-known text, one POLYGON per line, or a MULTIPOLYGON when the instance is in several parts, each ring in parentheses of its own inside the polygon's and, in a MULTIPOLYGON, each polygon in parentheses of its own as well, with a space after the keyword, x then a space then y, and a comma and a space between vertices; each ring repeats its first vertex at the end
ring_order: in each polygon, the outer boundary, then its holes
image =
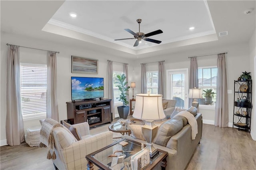
POLYGON ((66 127, 61 126, 53 129, 56 159, 52 159, 52 162, 55 168, 59 170, 86 170, 88 162, 85 156, 112 144, 113 132, 90 135, 87 122, 71 126, 80 136, 80 140, 77 140, 66 127))

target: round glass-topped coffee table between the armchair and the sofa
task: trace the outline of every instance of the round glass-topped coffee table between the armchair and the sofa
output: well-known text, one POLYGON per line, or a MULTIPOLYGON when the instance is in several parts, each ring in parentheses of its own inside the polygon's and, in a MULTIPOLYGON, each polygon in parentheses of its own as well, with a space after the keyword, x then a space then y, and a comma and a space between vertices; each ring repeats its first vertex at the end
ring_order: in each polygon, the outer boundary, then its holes
MULTIPOLYGON (((145 122, 143 120, 139 119, 130 119, 128 121, 127 125, 132 125, 132 124, 137 124, 137 125, 144 125, 145 122)), ((122 135, 131 134, 131 130, 128 128, 128 126, 122 126, 119 122, 112 123, 108 126, 108 129, 112 132, 117 132, 121 133, 122 135)))

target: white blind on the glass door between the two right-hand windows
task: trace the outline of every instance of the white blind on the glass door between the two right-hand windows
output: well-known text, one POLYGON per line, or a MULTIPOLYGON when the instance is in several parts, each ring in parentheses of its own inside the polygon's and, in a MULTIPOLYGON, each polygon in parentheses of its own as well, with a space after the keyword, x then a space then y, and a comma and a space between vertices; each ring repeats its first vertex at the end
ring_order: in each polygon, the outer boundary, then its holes
POLYGON ((176 100, 176 107, 184 108, 185 75, 172 74, 172 99, 176 100))

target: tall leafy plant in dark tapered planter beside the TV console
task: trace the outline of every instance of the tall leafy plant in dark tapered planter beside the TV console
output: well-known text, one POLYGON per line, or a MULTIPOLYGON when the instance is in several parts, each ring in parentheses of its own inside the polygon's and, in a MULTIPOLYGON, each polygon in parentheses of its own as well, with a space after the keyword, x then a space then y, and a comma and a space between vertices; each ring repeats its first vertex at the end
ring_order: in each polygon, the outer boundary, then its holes
POLYGON ((126 87, 126 84, 128 84, 128 82, 125 81, 126 76, 124 74, 122 74, 121 76, 117 75, 116 77, 117 77, 116 80, 118 80, 118 82, 115 82, 116 84, 118 84, 116 87, 118 87, 118 89, 121 92, 120 96, 117 99, 120 102, 123 102, 123 106, 118 106, 117 110, 118 110, 119 117, 126 119, 130 109, 130 107, 127 106, 129 102, 126 98, 126 96, 128 95, 128 89, 130 88, 130 86, 126 87))

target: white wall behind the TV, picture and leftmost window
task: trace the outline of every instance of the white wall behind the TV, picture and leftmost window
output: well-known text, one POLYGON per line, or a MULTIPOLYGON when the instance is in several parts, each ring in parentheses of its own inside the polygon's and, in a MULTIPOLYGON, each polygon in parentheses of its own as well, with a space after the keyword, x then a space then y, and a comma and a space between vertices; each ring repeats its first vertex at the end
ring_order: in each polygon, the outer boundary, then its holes
MULTIPOLYGON (((87 77, 103 77, 104 78, 104 97, 108 98, 108 74, 107 74, 107 60, 128 63, 128 70, 132 75, 132 67, 130 61, 125 58, 117 56, 109 56, 108 54, 100 53, 98 51, 86 50, 86 48, 79 48, 76 46, 68 46, 61 43, 49 42, 45 40, 38 40, 34 38, 17 36, 12 34, 5 34, 1 32, 1 86, 0 86, 0 141, 1 146, 6 144, 6 63, 7 63, 7 52, 8 47, 6 43, 16 44, 20 46, 28 46, 33 48, 40 48, 45 50, 59 51, 57 54, 57 89, 58 89, 58 108, 59 108, 59 119, 64 120, 67 118, 66 102, 71 101, 71 76, 87 76, 87 77), (72 74, 71 73, 71 56, 80 56, 85 58, 92 58, 99 60, 98 74, 72 74)), ((30 62, 38 64, 46 64, 46 51, 33 50, 28 48, 20 48, 20 62, 30 62)), ((123 71, 123 64, 114 62, 113 68, 115 70, 123 71)), ((132 78, 132 76, 130 76, 132 78)), ((132 79, 130 79, 132 80, 132 79)), ((130 84, 131 81, 129 81, 130 84)), ((132 91, 130 90, 130 95, 132 91)), ((40 125, 37 120, 24 121, 24 128, 40 125)))

